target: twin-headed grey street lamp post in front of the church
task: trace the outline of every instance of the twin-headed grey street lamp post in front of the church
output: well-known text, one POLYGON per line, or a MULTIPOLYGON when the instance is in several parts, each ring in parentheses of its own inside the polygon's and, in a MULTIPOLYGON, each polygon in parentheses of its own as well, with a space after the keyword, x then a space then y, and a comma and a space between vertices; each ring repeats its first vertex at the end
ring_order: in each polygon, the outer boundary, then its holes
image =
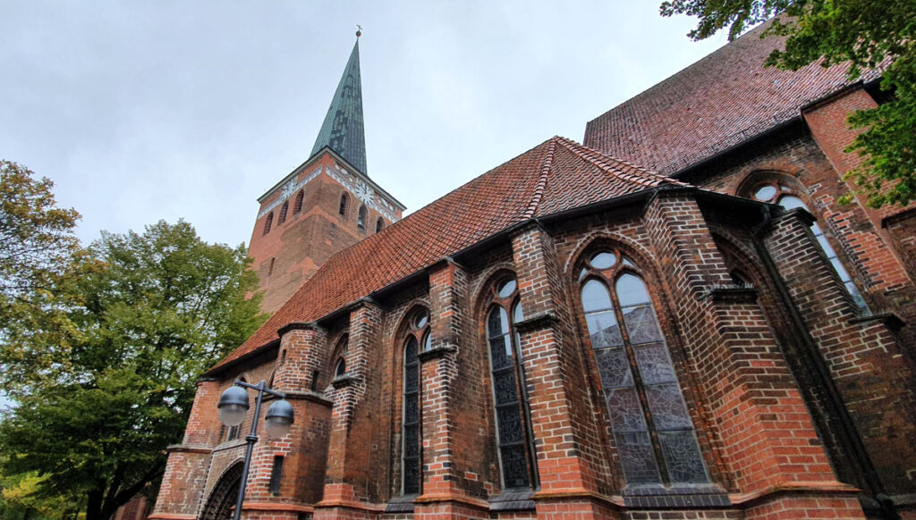
POLYGON ((245 414, 248 412, 248 392, 243 388, 251 388, 257 391, 255 400, 255 417, 251 421, 251 432, 245 437, 248 443, 245 449, 245 463, 242 466, 242 482, 238 485, 238 498, 235 499, 234 520, 242 517, 242 502, 245 501, 245 482, 248 480, 248 468, 251 466, 251 454, 255 450, 257 442, 256 429, 257 417, 261 414, 261 399, 265 394, 276 395, 279 401, 267 408, 267 417, 264 417, 264 429, 271 438, 278 439, 289 433, 289 427, 292 425, 293 413, 292 405, 286 400, 286 394, 267 388, 263 381, 257 385, 249 385, 244 381, 235 381, 234 385, 226 388, 223 395, 220 395, 220 404, 217 407, 220 410, 220 420, 228 427, 239 426, 245 420, 245 414))

